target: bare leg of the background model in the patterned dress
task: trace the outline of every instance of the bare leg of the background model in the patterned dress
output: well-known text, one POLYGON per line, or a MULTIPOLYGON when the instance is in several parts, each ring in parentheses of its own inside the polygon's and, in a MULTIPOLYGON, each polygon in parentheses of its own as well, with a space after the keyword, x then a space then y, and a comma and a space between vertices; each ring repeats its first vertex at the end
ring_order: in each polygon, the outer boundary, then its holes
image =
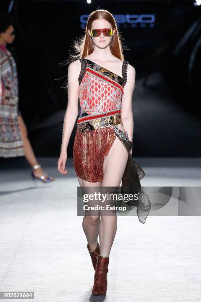
MULTIPOLYGON (((33 167, 34 165, 38 165, 38 161, 34 155, 32 146, 30 144, 29 138, 28 138, 28 131, 27 131, 27 127, 24 123, 24 120, 22 118, 22 115, 18 115, 18 123, 19 123, 19 127, 20 127, 20 132, 22 135, 22 140, 23 140, 23 145, 24 145, 24 153, 25 153, 25 157, 27 159, 27 161, 29 162, 29 164, 33 167)), ((40 177, 42 176, 45 171, 40 167, 38 169, 33 170, 33 173, 36 177, 40 177)), ((48 175, 45 176, 45 179, 48 177, 48 175)))

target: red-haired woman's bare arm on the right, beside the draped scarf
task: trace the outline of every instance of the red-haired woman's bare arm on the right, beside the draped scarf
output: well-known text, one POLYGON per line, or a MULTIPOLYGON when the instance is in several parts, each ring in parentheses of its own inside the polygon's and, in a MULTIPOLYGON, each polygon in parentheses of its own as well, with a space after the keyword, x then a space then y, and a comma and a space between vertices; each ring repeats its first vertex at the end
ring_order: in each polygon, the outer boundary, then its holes
POLYGON ((128 64, 127 70, 127 82, 124 86, 124 95, 122 98, 122 112, 121 118, 124 129, 128 132, 130 141, 133 141, 133 109, 132 109, 132 97, 135 84, 135 69, 132 65, 128 64))

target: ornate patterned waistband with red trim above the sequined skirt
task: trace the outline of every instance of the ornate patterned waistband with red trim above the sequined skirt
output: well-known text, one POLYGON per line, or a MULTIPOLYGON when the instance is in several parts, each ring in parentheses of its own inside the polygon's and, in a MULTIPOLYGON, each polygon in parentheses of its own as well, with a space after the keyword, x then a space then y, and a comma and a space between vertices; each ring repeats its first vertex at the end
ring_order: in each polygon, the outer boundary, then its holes
MULTIPOLYGON (((109 127, 111 125, 118 125, 122 123, 121 114, 118 113, 119 111, 121 112, 121 110, 115 110, 113 112, 110 111, 107 112, 109 114, 103 114, 103 116, 102 113, 97 114, 99 117, 97 117, 97 115, 93 115, 93 118, 91 118, 92 116, 89 115, 88 120, 80 121, 77 123, 78 131, 84 132, 86 130, 95 130, 109 127)), ((85 116, 85 118, 87 119, 88 116, 85 116)))

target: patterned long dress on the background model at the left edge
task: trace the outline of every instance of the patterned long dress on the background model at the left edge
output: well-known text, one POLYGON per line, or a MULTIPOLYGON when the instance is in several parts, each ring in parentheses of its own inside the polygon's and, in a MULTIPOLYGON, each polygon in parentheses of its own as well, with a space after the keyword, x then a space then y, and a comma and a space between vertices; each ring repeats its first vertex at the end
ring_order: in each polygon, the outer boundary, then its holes
POLYGON ((20 114, 16 64, 11 52, 0 44, 0 157, 24 156, 20 114))

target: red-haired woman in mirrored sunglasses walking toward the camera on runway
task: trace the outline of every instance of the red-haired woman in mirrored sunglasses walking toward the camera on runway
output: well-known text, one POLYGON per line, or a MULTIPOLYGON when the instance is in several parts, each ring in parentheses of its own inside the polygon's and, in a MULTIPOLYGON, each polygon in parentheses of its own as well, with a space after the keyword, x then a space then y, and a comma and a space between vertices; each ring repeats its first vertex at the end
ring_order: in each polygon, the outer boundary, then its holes
MULTIPOLYGON (((144 224, 151 204, 141 190, 140 179, 144 177, 144 171, 132 157, 135 69, 124 59, 120 40, 110 12, 98 9, 90 14, 85 36, 75 45, 79 53, 72 55, 73 62, 68 66, 68 105, 58 170, 64 175, 68 173, 67 147, 76 121, 73 164, 80 187, 84 190, 101 187, 101 193, 106 189, 106 194, 117 195, 118 190, 114 187, 119 189, 122 183, 122 202, 130 193, 133 198, 126 201, 126 205, 131 209, 132 205, 136 206, 138 219, 144 224), (77 118, 78 99, 81 113, 77 118)), ((112 213, 107 211, 110 198, 104 200, 103 209, 95 210, 95 215, 94 207, 93 213, 83 208, 82 227, 95 268, 93 295, 104 295, 107 291, 109 254, 117 230, 116 207, 112 213)), ((100 202, 102 200, 96 205, 100 202)))

